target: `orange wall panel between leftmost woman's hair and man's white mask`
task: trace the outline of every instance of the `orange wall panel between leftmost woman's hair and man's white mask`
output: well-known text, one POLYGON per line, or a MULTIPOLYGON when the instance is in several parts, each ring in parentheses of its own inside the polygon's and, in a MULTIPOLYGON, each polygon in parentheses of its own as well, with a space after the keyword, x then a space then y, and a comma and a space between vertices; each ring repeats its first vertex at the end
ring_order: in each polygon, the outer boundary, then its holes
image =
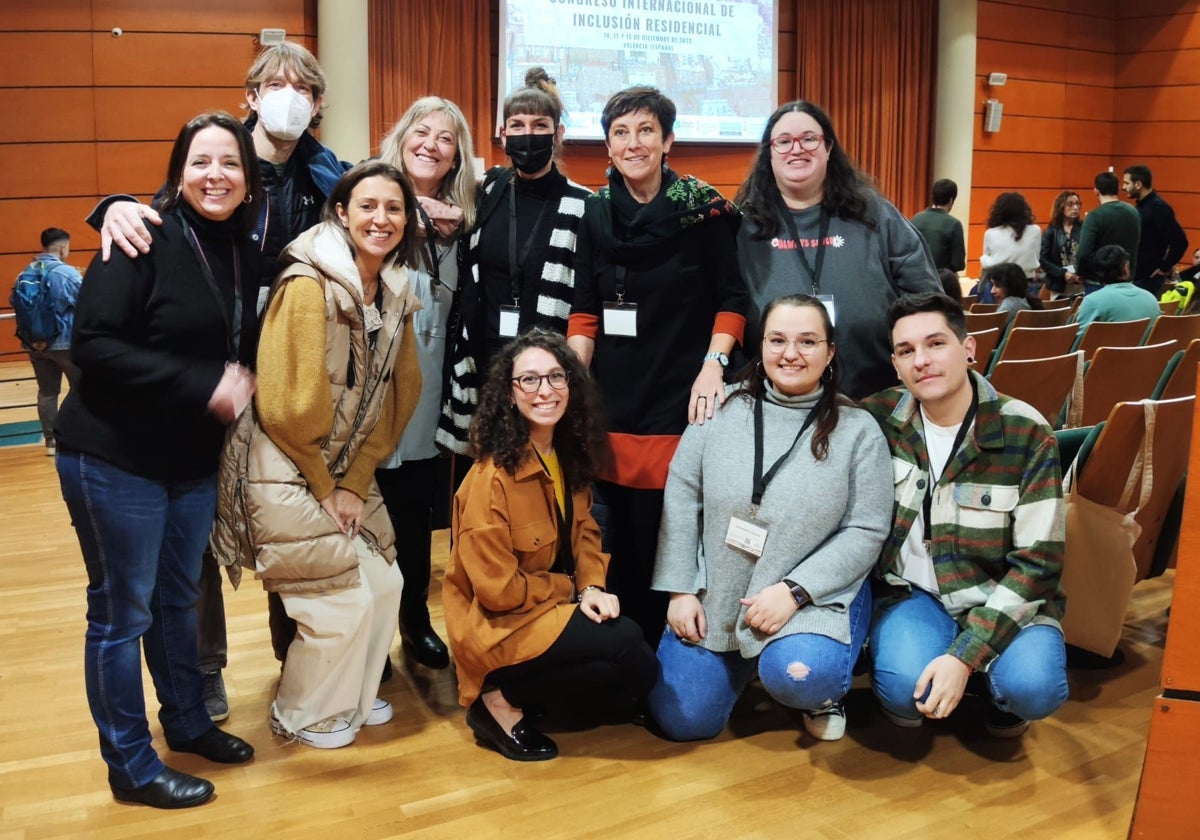
POLYGON ((205 110, 246 112, 240 86, 96 88, 97 140, 174 140, 179 128, 205 110))

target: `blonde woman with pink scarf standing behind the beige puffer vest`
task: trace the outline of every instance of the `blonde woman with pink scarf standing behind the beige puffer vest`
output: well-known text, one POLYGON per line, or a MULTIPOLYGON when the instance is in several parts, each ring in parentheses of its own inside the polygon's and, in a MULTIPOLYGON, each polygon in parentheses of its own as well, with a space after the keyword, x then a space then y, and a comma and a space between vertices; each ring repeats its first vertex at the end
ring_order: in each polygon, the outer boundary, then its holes
MULTIPOLYGON (((416 192, 420 241, 408 280, 421 301, 413 314, 421 397, 396 451, 379 462, 376 481, 396 530, 396 562, 404 576, 401 643, 428 668, 450 665, 450 653, 430 623, 427 604, 433 509, 443 488, 439 467, 445 468, 434 436, 442 415, 448 324, 458 293, 462 232, 475 222, 473 156, 466 118, 458 106, 439 96, 414 102, 379 145, 379 157, 408 175, 416 192)), ((388 659, 384 673, 390 671, 388 659)))

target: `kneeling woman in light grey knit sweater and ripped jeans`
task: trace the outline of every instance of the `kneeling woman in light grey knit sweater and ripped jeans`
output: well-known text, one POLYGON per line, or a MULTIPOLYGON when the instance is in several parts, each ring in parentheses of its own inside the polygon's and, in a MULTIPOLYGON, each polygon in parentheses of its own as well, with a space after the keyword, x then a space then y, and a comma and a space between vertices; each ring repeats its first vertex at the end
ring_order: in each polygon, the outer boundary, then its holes
POLYGON ((870 624, 864 581, 892 521, 887 444, 838 395, 820 300, 773 301, 762 336, 762 360, 688 427, 667 478, 653 587, 671 604, 649 704, 677 740, 720 733, 755 674, 804 710, 810 734, 836 740, 870 624))

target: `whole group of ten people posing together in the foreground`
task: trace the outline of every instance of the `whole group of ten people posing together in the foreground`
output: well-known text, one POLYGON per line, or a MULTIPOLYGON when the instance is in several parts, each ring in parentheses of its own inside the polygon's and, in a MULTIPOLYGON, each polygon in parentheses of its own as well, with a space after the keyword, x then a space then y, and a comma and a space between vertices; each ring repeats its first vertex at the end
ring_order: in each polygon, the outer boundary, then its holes
POLYGON ((521 761, 557 755, 539 721, 564 710, 712 738, 756 676, 836 739, 864 647, 902 727, 979 694, 1010 737, 1066 700, 1054 436, 970 371, 926 245, 826 113, 776 109, 730 200, 670 167, 668 98, 619 91, 593 194, 556 162, 553 80, 526 82, 510 167, 480 176, 439 97, 350 167, 307 132, 313 56, 269 47, 245 122, 197 116, 152 206, 97 208, 55 434, 118 799, 214 790, 152 749, 139 646, 172 750, 253 756, 214 725, 220 566, 268 590, 270 726, 314 748, 391 719, 397 616, 521 761), (449 652, 439 446, 472 462, 449 652))

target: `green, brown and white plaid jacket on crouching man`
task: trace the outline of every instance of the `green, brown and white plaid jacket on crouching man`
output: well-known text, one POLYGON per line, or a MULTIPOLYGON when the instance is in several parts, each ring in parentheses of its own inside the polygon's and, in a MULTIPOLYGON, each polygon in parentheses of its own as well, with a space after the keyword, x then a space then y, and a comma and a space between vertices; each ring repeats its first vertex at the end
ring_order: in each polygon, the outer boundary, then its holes
MULTIPOLYGON (((1001 396, 972 372, 979 395, 974 430, 942 473, 931 504, 930 553, 942 604, 961 632, 947 653, 988 670, 1021 628, 1058 626, 1066 598, 1058 445, 1026 403, 1001 396)), ((895 521, 875 571, 880 606, 907 598, 900 547, 929 481, 917 401, 904 388, 863 401, 892 450, 895 521)))

